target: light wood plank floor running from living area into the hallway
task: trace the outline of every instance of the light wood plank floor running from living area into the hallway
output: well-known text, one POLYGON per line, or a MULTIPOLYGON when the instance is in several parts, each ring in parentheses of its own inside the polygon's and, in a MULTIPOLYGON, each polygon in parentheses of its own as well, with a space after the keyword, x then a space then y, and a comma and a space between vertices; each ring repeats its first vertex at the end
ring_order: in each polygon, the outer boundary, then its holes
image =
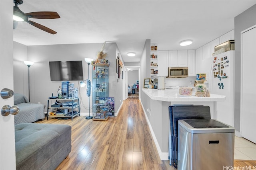
MULTIPOLYGON (((160 160, 138 98, 125 100, 118 116, 108 121, 78 116, 73 121, 45 119, 36 123, 72 127, 72 150, 56 170, 176 170, 168 160, 160 160)), ((234 165, 253 168, 256 162, 238 160, 234 165)))

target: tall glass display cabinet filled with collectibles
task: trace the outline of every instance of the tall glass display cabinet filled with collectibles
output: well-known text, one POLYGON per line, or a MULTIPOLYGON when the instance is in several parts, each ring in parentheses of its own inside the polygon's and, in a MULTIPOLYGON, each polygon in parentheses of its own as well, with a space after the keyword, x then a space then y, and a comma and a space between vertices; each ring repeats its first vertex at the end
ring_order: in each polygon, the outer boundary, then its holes
POLYGON ((92 64, 92 115, 93 120, 108 120, 108 66, 92 64))

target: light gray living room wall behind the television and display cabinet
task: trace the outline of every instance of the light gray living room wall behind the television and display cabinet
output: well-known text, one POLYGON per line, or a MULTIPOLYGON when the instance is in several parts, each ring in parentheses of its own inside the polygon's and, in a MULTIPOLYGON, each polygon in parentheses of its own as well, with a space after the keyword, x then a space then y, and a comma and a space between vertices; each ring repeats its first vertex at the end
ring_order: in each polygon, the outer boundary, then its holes
MULTIPOLYGON (((37 45, 26 46, 14 42, 14 90, 15 92, 28 96, 28 68, 23 63, 24 59, 34 61, 30 66, 30 102, 45 104, 47 99, 54 94, 57 95, 60 81, 50 81, 49 61, 83 61, 84 80, 88 78, 88 64, 84 58, 96 59, 97 52, 101 49, 103 43, 92 44, 66 44, 66 45, 37 45), (21 55, 22 54, 22 55, 21 55), (22 57, 20 57, 22 56, 22 57), (22 80, 24 81, 22 81, 22 80)), ((109 96, 115 98, 115 112, 122 103, 122 78, 117 82, 116 74, 116 56, 119 53, 116 43, 106 43, 104 52, 107 53, 106 59, 110 61, 109 66, 109 96)), ((90 64, 90 78, 92 78, 92 68, 90 64)), ((122 71, 122 70, 121 70, 122 71)), ((78 81, 70 81, 76 88, 80 88, 78 81)), ((88 97, 86 89, 81 88, 80 99, 85 107, 81 107, 81 113, 88 113, 88 97)), ((90 96, 92 98, 92 96, 90 96)), ((90 100, 91 101, 91 100, 90 100)), ((92 108, 92 102, 90 102, 92 108)), ((46 109, 45 109, 46 111, 46 109)))

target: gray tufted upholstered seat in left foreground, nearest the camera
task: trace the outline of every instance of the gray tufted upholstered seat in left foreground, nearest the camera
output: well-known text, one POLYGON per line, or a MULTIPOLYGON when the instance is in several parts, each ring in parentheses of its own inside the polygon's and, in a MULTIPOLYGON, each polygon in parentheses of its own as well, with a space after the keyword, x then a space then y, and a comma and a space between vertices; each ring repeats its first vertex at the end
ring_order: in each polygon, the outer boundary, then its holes
POLYGON ((54 170, 71 151, 71 126, 15 125, 16 169, 54 170))

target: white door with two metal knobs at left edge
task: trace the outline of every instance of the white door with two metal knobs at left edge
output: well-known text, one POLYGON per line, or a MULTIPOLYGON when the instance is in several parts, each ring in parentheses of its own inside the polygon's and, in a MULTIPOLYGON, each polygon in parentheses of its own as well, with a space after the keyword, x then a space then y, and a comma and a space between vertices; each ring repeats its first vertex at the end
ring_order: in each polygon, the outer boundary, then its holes
MULTIPOLYGON (((13 90, 13 2, 0 0, 0 91, 13 90)), ((0 108, 13 106, 13 97, 0 97, 0 108)), ((0 169, 15 170, 14 116, 0 114, 0 169)))

